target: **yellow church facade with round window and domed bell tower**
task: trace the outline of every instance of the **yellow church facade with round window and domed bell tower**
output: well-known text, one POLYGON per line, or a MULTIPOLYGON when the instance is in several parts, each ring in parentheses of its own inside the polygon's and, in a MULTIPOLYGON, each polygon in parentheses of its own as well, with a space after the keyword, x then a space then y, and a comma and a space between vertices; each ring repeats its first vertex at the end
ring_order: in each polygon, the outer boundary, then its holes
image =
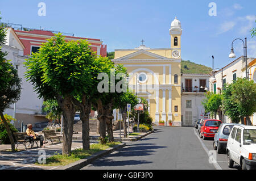
POLYGON ((181 24, 177 18, 169 30, 171 48, 117 49, 112 60, 122 64, 129 73, 129 89, 145 98, 154 123, 172 120, 181 126, 181 24))

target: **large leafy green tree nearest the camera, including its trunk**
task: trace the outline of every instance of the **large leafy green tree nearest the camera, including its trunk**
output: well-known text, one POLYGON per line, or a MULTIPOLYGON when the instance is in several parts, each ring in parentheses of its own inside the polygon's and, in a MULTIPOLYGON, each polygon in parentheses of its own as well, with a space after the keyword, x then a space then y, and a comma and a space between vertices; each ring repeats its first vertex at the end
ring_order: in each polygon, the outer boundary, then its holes
POLYGON ((86 40, 65 41, 58 33, 24 64, 27 80, 32 82, 39 97, 56 99, 63 111, 63 154, 71 151, 76 111, 73 99, 88 89, 86 82, 91 76, 86 62, 93 56, 88 52, 86 40))

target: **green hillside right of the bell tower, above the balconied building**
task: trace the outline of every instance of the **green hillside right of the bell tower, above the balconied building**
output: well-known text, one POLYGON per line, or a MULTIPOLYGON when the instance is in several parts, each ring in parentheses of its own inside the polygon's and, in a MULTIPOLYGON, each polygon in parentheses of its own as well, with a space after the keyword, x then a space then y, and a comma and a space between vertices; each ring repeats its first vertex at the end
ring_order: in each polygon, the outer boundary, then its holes
POLYGON ((204 66, 201 64, 196 64, 189 60, 181 61, 181 73, 183 74, 210 74, 212 73, 212 68, 204 66))

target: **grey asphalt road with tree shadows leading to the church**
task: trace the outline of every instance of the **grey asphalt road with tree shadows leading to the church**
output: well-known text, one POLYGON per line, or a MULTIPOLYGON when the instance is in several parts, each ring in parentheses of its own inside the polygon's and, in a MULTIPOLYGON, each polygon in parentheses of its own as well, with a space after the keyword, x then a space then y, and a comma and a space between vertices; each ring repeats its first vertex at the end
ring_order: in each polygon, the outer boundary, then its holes
MULTIPOLYGON (((155 132, 97 159, 86 170, 212 170, 209 157, 194 128, 154 127, 155 132)), ((210 142, 207 142, 207 145, 210 142)), ((212 148, 210 148, 212 149, 212 148)), ((226 157, 225 157, 226 158, 226 157)))

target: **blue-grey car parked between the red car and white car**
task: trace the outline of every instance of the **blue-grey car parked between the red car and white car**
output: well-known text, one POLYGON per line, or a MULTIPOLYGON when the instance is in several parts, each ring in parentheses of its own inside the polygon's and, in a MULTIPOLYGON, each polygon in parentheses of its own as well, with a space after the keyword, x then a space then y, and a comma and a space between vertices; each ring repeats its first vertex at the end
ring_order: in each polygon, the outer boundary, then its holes
POLYGON ((229 134, 234 125, 240 124, 222 123, 218 128, 213 141, 213 149, 217 150, 217 153, 226 151, 226 143, 228 142, 229 134))

